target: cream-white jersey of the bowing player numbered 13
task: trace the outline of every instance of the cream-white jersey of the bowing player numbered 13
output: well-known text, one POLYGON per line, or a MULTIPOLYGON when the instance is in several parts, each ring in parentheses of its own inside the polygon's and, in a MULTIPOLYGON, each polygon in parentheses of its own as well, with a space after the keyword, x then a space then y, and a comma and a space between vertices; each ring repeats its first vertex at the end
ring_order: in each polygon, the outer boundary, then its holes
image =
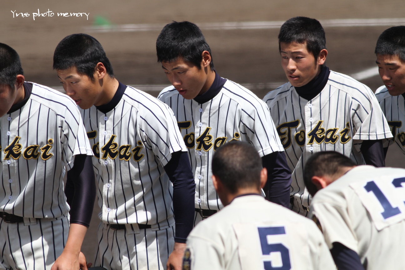
POLYGON ((318 191, 311 214, 326 243, 356 251, 365 269, 405 269, 405 170, 358 166, 318 191))

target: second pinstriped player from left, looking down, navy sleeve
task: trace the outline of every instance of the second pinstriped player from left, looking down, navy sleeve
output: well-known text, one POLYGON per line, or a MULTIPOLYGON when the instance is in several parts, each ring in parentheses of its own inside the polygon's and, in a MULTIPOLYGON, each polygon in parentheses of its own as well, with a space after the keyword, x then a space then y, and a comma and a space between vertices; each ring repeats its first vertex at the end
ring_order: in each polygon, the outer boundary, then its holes
POLYGON ((53 68, 81 108, 94 153, 102 221, 95 266, 166 269, 167 263, 180 269, 195 184, 173 112, 119 83, 92 36, 66 36, 55 49, 53 68))

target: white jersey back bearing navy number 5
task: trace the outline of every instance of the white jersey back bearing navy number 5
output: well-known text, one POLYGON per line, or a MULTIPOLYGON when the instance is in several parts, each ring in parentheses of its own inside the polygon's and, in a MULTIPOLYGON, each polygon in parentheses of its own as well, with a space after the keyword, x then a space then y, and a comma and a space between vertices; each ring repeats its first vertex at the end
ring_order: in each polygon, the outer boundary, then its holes
POLYGON ((335 270, 315 223, 256 195, 235 198, 187 238, 184 266, 202 269, 335 270))

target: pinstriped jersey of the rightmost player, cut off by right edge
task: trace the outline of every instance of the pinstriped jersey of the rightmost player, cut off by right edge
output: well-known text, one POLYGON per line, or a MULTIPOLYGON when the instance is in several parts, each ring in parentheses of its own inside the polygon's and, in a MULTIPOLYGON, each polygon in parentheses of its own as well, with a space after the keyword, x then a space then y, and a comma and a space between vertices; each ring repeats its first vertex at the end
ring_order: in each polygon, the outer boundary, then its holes
POLYGON ((384 143, 388 147, 395 142, 405 154, 405 100, 403 95, 391 96, 384 85, 375 91, 375 96, 391 128, 393 138, 384 143))

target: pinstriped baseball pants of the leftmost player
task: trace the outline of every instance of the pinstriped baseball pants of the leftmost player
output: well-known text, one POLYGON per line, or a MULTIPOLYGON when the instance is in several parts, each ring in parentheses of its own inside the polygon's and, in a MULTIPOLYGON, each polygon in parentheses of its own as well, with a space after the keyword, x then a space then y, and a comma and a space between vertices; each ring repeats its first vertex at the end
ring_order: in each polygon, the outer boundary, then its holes
POLYGON ((62 254, 68 233, 68 217, 38 219, 35 225, 0 219, 0 270, 51 269, 62 254))

